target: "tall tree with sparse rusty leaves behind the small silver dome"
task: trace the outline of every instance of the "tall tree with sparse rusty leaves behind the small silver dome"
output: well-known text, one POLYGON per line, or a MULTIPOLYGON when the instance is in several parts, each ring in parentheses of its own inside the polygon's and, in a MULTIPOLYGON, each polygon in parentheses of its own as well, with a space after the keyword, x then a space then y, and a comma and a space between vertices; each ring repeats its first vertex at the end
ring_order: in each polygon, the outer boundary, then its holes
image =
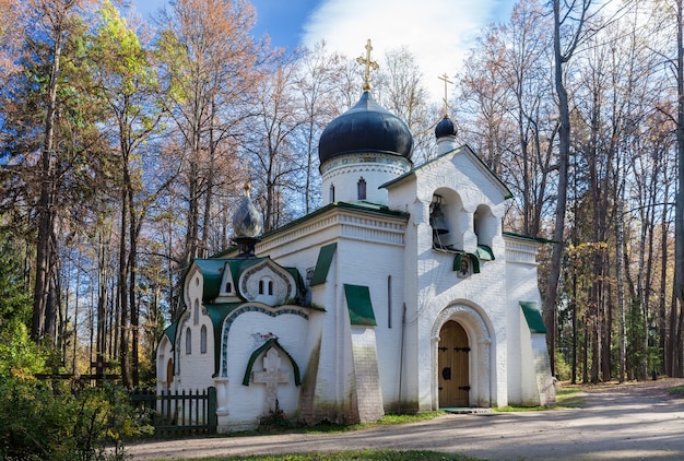
POLYGON ((208 233, 201 226, 210 223, 202 223, 201 206, 212 201, 216 143, 245 117, 231 108, 249 98, 258 78, 259 50, 250 34, 255 21, 253 8, 244 0, 179 0, 165 17, 157 52, 169 111, 187 150, 181 159, 187 187, 184 268, 207 251, 201 246, 208 233))

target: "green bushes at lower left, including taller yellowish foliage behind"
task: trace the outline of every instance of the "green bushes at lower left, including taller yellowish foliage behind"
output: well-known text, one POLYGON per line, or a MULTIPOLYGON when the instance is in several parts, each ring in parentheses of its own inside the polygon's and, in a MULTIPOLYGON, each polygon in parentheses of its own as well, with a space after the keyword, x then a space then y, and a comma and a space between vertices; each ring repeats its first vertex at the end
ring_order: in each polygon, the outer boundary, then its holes
POLYGON ((0 459, 122 459, 122 439, 152 429, 133 418, 121 389, 35 379, 48 356, 23 323, 0 323, 0 459))

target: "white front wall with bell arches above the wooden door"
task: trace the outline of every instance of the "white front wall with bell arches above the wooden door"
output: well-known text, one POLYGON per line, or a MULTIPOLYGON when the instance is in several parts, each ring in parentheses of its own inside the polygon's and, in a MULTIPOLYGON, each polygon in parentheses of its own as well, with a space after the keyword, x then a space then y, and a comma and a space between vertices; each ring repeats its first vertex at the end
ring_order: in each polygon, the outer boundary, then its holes
POLYGON ((436 319, 448 320, 443 315, 446 311, 458 317, 469 331, 473 350, 471 404, 500 406, 508 402, 505 246, 500 237, 505 192, 468 149, 447 154, 389 186, 390 208, 412 214, 404 257, 408 303, 404 382, 406 399, 415 399, 421 411, 438 407, 433 352, 441 327, 436 324, 436 319), (452 270, 455 253, 433 249, 429 204, 435 193, 443 197, 443 211, 452 234, 446 235, 443 244, 467 252, 474 252, 479 244, 491 246, 496 259, 481 261, 480 273, 459 279, 452 270), (477 210, 480 236, 475 234, 477 210), (456 309, 458 305, 468 306, 470 314, 456 309))

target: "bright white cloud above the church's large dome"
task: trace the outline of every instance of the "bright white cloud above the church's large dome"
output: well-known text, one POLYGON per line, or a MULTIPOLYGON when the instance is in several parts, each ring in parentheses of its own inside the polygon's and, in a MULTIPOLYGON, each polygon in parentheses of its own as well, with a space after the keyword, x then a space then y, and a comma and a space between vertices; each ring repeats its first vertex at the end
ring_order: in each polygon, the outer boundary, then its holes
POLYGON ((330 49, 356 58, 370 38, 378 61, 388 49, 405 46, 440 101, 437 76, 453 76, 482 27, 505 21, 511 8, 512 0, 322 0, 304 25, 303 43, 325 39, 330 49))

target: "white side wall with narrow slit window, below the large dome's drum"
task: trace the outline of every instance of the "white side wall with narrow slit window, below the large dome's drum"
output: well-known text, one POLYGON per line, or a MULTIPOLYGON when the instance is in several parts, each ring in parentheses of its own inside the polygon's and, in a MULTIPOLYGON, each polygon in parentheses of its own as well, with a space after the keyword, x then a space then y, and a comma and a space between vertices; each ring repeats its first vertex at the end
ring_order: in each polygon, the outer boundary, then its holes
MULTIPOLYGON (((332 414, 351 417, 354 376, 351 326, 343 285, 363 285, 370 289, 378 326, 374 329, 378 346, 379 376, 384 403, 394 410, 401 381, 401 335, 404 300, 404 229, 406 220, 369 215, 335 209, 303 225, 264 239, 257 253, 267 252, 282 265, 296 265, 300 273, 316 265, 321 246, 338 243, 328 280, 311 287, 311 302, 326 308, 322 315, 320 360, 316 378, 316 402, 320 407, 337 409, 332 414), (287 241, 280 247, 275 241, 287 241), (391 277, 391 279, 390 279, 391 277), (388 281, 390 279, 391 281, 388 281)), ((314 338, 314 335, 311 335, 314 338)), ((317 347, 311 342, 309 347, 317 347)), ((311 415, 316 419, 318 416, 311 415)))

